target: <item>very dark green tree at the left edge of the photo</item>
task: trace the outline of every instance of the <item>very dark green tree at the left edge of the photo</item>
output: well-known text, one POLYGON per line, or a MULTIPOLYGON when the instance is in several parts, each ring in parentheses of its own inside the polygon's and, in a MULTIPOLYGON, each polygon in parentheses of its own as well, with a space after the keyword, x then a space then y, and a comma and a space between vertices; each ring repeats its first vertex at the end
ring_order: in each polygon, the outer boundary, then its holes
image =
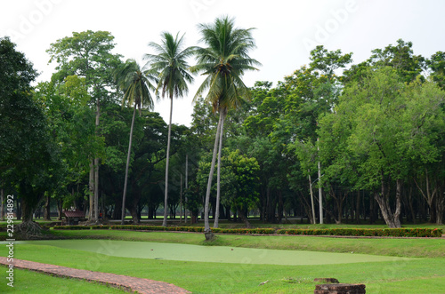
MULTIPOLYGON (((33 212, 59 181, 59 148, 49 134, 43 106, 32 96, 36 70, 25 55, 15 50, 8 37, 0 38, 0 174, 2 185, 16 189, 22 202, 24 238, 39 234, 33 212)), ((7 190, 7 191, 8 191, 7 190)))

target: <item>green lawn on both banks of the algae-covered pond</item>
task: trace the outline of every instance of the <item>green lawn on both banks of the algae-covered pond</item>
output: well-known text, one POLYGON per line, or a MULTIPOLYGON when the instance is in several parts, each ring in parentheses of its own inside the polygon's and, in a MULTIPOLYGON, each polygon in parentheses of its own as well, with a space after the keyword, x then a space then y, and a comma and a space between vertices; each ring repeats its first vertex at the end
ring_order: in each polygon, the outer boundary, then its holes
MULTIPOLYGON (((127 231, 67 231, 69 237, 101 237, 150 242, 202 244, 202 234, 143 233, 127 231)), ((118 258, 96 252, 54 248, 53 246, 17 244, 15 257, 37 262, 71 266, 94 271, 127 274, 172 282, 193 293, 310 293, 317 277, 335 277, 340 282, 365 283, 369 293, 443 293, 445 289, 445 240, 443 239, 343 239, 305 236, 220 235, 215 244, 287 250, 315 250, 409 257, 392 261, 347 263, 322 266, 276 266, 118 258), (420 256, 427 258, 418 258, 420 256), (417 257, 417 258, 416 258, 417 257), (268 282, 266 282, 268 281, 268 282), (260 286, 261 282, 266 282, 260 286)), ((103 250, 103 249, 102 249, 103 250)), ((5 247, 0 247, 4 256, 5 247)), ((23 271, 25 272, 25 271, 23 271)), ((31 273, 33 274, 33 273, 31 273)), ((20 276, 20 275, 18 275, 20 276)), ((54 289, 66 284, 55 279, 54 289)), ((35 286, 40 278, 27 279, 35 286)), ((77 283, 77 281, 71 281, 77 283)), ((20 280, 17 281, 20 284, 20 280)), ((21 285, 23 286, 23 285, 21 285)), ((85 290, 104 293, 108 290, 85 290)), ((4 285, 0 285, 0 291, 4 285)), ((74 287, 74 286, 73 286, 74 287)), ((89 287, 87 284, 86 287, 89 287)), ((19 289, 17 289, 19 290, 19 289)), ((22 291, 22 292, 27 292, 22 291)))

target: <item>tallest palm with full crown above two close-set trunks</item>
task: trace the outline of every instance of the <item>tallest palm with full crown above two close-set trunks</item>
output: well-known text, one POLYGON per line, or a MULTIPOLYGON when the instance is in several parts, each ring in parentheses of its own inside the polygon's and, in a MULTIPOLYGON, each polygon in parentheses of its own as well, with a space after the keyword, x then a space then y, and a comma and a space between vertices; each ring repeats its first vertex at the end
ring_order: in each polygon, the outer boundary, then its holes
POLYGON ((249 91, 242 80, 242 75, 247 70, 257 70, 254 66, 260 65, 257 60, 251 59, 248 52, 255 48, 255 40, 252 36, 254 28, 234 28, 234 20, 223 17, 214 20, 211 24, 200 24, 198 28, 201 33, 201 42, 206 44, 205 48, 198 48, 196 66, 190 68, 191 72, 200 72, 206 75, 206 79, 199 86, 195 95, 198 99, 204 91, 207 91, 206 101, 213 106, 214 112, 219 112, 219 122, 214 139, 214 154, 207 182, 206 203, 204 208, 205 233, 212 236, 208 223, 208 204, 210 190, 214 174, 214 162, 218 141, 220 150, 218 155, 218 178, 216 195, 216 218, 215 226, 218 226, 217 216, 219 213, 219 173, 221 171, 221 139, 223 139, 223 123, 230 108, 239 106, 240 96, 249 97, 249 91))

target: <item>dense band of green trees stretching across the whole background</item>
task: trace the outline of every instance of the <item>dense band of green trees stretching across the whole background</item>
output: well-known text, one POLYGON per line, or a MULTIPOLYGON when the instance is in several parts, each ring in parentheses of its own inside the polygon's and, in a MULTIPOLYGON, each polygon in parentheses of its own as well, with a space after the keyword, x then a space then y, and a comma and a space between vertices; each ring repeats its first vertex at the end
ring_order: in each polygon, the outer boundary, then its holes
MULTIPOLYGON (((219 21, 233 25, 230 19, 219 21)), ((110 53, 115 44, 108 32, 74 33, 51 44, 57 72, 35 87, 32 64, 8 38, 0 39, 0 185, 17 195, 18 217, 22 212, 31 220, 44 206, 60 217, 62 209, 77 208, 90 211, 92 220, 99 218, 93 210, 102 219, 119 219, 125 186, 125 208, 134 223, 143 213, 154 219, 165 205, 170 218, 183 215, 185 207, 196 221, 206 203, 211 216, 247 226, 249 216, 315 223, 321 199, 326 222, 442 224, 443 52, 426 58, 398 40, 352 64, 352 53, 318 46, 311 62, 283 81, 247 89, 241 76, 259 65, 247 55, 255 42, 250 29, 233 28, 239 34, 235 41, 248 41, 245 48, 232 48, 242 49, 242 59, 237 54, 219 59, 221 48, 206 41, 215 41, 212 29, 223 25, 201 25, 206 48, 187 49, 182 63, 195 54, 192 71, 207 77, 195 97, 190 127, 173 124, 171 135, 167 123, 144 107, 147 101, 139 103, 155 89, 129 95, 130 85, 139 87, 141 79, 124 73, 125 64, 134 61, 110 53), (101 42, 93 46, 85 40, 101 42), (233 83, 217 79, 231 74, 233 83), (122 100, 131 103, 122 107, 122 100), (134 115, 136 107, 140 115, 134 115), (218 139, 224 148, 217 148, 218 139), (218 178, 209 180, 217 149, 218 178)), ((157 55, 147 56, 160 62, 157 55)), ((150 71, 149 62, 134 73, 153 75, 169 99, 181 96, 179 88, 169 90, 159 67, 150 71)), ((190 75, 186 80, 191 82, 190 75)))

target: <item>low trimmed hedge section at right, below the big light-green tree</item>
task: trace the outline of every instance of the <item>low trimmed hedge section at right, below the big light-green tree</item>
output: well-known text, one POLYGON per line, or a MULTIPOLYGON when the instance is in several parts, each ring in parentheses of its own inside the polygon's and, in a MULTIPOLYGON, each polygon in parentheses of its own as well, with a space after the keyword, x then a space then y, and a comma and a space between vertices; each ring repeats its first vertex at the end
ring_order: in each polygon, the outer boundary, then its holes
POLYGON ((441 237, 438 228, 327 228, 281 229, 277 234, 342 235, 372 237, 441 237))

